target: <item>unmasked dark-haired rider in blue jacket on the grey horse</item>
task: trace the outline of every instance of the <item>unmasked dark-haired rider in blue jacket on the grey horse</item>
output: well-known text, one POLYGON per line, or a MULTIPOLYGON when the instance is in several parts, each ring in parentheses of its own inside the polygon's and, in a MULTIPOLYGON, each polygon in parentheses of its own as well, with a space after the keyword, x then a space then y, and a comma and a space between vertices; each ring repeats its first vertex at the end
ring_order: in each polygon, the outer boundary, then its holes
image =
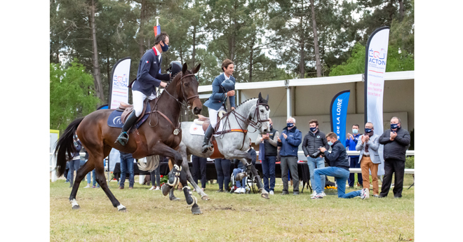
POLYGON ((217 125, 217 114, 220 110, 225 111, 225 100, 227 100, 227 97, 230 97, 231 110, 234 110, 236 107, 234 90, 234 84, 236 81, 235 78, 231 76, 234 72, 234 65, 231 60, 225 59, 222 62, 222 72, 224 73, 215 77, 212 85, 213 93, 210 95, 209 99, 204 102, 204 106, 208 107, 210 125, 204 134, 203 153, 208 152, 209 140, 214 133, 215 126, 217 125), (222 85, 222 83, 227 80, 232 81, 232 83, 227 83, 226 85, 230 86, 229 89, 231 90, 227 90, 227 88, 224 88, 224 85, 222 85))

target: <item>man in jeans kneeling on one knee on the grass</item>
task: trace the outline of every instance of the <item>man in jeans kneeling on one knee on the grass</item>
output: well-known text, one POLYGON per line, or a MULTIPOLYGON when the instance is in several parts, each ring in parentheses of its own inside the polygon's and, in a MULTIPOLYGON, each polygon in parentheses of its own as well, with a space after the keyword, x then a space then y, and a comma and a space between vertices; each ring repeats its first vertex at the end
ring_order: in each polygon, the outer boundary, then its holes
POLYGON ((326 135, 326 140, 331 146, 331 153, 328 152, 325 147, 321 147, 320 151, 325 154, 326 160, 330 164, 330 167, 316 168, 314 170, 314 187, 316 195, 313 196, 312 199, 323 199, 323 196, 321 196, 323 187, 321 187, 320 175, 336 177, 337 197, 342 199, 351 199, 356 196, 361 196, 362 199, 368 199, 370 191, 366 188, 358 191, 351 191, 346 194, 346 181, 347 178, 349 178, 349 160, 347 159, 346 148, 344 148, 344 145, 339 140, 337 140, 337 135, 333 132, 330 132, 328 135, 326 135))

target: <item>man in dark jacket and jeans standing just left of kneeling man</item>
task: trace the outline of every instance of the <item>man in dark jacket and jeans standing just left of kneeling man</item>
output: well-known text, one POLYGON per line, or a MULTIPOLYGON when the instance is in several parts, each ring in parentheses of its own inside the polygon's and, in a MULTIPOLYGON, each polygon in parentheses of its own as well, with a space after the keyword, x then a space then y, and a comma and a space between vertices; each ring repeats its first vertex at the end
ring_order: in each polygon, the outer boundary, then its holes
MULTIPOLYGON (((319 152, 320 147, 325 147, 325 149, 330 149, 328 145, 328 141, 326 141, 325 133, 321 132, 318 129, 318 121, 316 119, 312 119, 309 121, 309 132, 307 135, 304 136, 304 142, 302 142, 302 150, 304 151, 304 155, 307 157, 307 165, 309 165, 309 173, 310 173, 310 184, 314 187, 315 180, 314 180, 314 170, 315 168, 324 168, 325 167, 325 159, 319 152), (316 154, 316 156, 314 156, 316 154)), ((324 175, 322 177, 322 187, 325 189, 325 182, 326 177, 324 175)), ((325 192, 322 189, 322 195, 326 196, 325 192)), ((311 194, 311 196, 315 196, 316 191, 311 194)))

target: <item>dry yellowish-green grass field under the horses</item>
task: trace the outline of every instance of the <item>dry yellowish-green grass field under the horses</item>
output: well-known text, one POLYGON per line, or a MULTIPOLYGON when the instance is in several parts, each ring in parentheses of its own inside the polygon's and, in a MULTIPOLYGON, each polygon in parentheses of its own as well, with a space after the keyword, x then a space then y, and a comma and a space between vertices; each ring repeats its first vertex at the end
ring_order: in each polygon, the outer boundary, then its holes
POLYGON ((291 188, 290 195, 281 196, 280 178, 269 200, 259 194, 216 193, 218 185, 207 184, 210 201, 193 193, 202 215, 192 215, 182 192, 175 191, 180 202, 169 201, 161 191, 138 184, 137 176, 131 190, 118 190, 117 182, 109 182, 126 213, 117 212, 102 189, 84 189, 86 182, 81 182, 76 198, 81 208, 72 210, 71 189, 64 182, 50 183, 51 241, 398 241, 399 236, 415 240, 414 187, 407 190, 411 175, 405 175, 401 199, 394 199, 392 190, 385 199, 328 195, 312 200, 309 191, 293 196, 291 188))

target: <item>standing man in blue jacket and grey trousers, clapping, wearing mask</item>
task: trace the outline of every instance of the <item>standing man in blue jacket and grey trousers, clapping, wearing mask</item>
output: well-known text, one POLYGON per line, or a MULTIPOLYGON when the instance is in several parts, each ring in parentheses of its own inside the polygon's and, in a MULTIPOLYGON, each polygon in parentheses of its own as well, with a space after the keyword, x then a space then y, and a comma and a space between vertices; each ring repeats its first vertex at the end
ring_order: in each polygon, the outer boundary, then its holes
POLYGON ((283 180, 283 192, 288 194, 288 168, 293 178, 293 195, 299 195, 299 174, 297 173, 297 149, 302 142, 302 132, 295 126, 296 119, 289 117, 286 120, 286 127, 283 128, 278 138, 278 147, 281 156, 281 180, 283 180))

